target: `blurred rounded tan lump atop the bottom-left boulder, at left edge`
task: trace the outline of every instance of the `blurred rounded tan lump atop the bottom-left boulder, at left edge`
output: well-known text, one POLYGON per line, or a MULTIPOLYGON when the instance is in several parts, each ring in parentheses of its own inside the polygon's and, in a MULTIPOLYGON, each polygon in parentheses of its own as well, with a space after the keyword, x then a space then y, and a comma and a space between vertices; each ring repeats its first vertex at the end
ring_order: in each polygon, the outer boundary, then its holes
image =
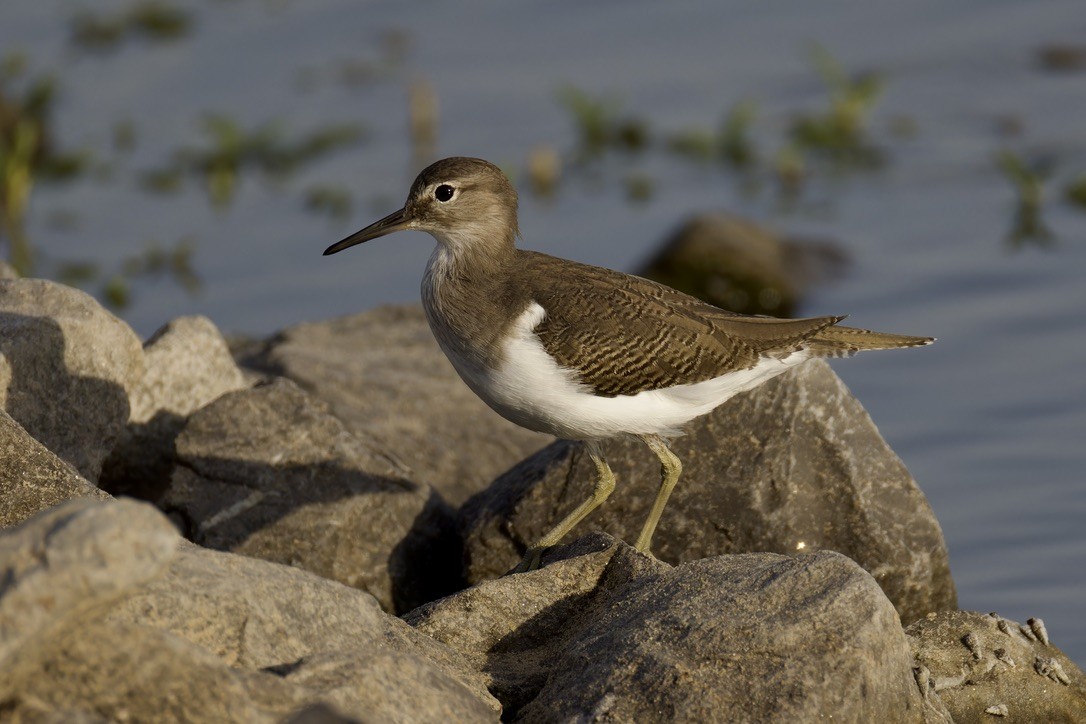
POLYGON ((180 536, 149 505, 71 500, 0 532, 0 701, 41 639, 153 579, 180 536))

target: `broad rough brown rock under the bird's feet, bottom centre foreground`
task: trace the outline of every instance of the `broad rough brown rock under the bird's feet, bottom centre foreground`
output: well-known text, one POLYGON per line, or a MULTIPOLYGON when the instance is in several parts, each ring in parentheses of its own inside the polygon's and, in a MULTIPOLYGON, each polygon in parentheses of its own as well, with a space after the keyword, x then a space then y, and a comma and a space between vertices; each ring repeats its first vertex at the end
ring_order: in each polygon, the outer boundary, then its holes
POLYGON ((894 607, 844 556, 558 552, 585 555, 407 617, 481 666, 507 719, 938 721, 894 607))

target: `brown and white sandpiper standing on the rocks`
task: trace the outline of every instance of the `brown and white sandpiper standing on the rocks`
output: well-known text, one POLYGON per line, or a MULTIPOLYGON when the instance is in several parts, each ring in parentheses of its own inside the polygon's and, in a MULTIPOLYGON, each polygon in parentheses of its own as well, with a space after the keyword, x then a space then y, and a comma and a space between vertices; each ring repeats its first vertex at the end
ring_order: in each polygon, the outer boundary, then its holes
POLYGON ((731 397, 817 357, 923 346, 930 336, 842 327, 843 316, 779 319, 715 307, 648 279, 516 245, 517 191, 482 158, 424 168, 403 208, 327 250, 425 231, 437 244, 422 307, 456 372, 504 418, 581 441, 596 469, 588 497, 528 546, 514 573, 607 499, 615 474, 604 441, 640 437, 660 461, 660 485, 635 548, 652 539, 682 473, 669 440, 731 397))

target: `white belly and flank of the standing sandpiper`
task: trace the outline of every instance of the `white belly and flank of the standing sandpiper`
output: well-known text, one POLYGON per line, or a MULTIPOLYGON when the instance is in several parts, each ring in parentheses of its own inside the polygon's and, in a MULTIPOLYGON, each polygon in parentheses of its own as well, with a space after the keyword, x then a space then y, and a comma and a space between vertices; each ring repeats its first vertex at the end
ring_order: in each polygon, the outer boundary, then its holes
MULTIPOLYGON (((732 396, 752 390, 807 359, 797 352, 766 358, 755 367, 704 382, 635 395, 597 397, 547 355, 533 330, 545 312, 532 304, 510 328, 502 365, 475 369, 445 348, 456 371, 488 405, 517 424, 567 440, 603 440, 623 434, 680 434, 682 427, 732 396)), ((444 346, 444 345, 442 345, 444 346)))

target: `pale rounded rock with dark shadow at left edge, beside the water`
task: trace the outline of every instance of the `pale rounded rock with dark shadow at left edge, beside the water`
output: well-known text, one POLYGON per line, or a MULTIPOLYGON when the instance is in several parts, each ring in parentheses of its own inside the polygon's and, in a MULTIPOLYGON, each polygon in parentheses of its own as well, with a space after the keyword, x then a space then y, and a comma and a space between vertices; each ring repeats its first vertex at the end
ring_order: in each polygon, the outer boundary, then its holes
POLYGON ((0 280, 0 408, 97 481, 143 374, 136 333, 78 290, 0 280))

